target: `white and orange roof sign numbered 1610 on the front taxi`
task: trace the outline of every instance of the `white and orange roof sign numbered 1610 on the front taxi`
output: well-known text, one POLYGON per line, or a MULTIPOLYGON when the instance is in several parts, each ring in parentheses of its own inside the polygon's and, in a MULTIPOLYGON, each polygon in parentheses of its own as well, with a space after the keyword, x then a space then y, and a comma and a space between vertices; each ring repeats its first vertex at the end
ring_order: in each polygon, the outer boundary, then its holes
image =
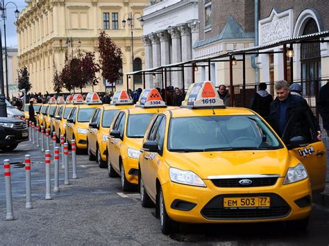
POLYGON ((219 98, 219 94, 210 81, 191 84, 182 106, 194 108, 225 107, 223 100, 219 98))

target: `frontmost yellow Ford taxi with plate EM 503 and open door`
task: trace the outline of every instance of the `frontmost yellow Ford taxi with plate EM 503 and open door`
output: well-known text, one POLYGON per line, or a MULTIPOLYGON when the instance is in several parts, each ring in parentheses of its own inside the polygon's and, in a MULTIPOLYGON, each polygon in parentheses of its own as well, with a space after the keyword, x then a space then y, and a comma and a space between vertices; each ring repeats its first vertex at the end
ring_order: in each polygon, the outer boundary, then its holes
POLYGON ((305 229, 312 191, 325 187, 326 152, 315 132, 285 145, 258 114, 226 108, 202 82, 189 87, 181 108, 153 116, 139 170, 142 206, 155 203, 163 234, 178 222, 305 229))

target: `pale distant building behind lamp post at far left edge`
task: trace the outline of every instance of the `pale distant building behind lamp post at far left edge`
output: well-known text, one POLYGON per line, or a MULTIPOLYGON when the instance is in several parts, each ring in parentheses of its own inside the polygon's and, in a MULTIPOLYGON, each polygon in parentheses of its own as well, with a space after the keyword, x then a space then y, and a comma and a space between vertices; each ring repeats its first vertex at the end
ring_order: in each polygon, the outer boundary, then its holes
MULTIPOLYGON (((5 92, 6 92, 6 58, 5 58, 5 50, 3 49, 2 54, 2 62, 3 62, 3 79, 5 84, 5 92)), ((18 96, 18 56, 17 56, 17 48, 16 47, 7 47, 7 62, 8 62, 8 91, 9 96, 18 96)))

